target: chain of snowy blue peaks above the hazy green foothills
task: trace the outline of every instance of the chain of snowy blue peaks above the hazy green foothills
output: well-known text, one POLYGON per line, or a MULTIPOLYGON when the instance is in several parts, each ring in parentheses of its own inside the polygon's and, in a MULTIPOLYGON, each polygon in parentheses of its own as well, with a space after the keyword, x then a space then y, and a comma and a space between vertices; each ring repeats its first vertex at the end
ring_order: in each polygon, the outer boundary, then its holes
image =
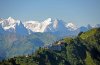
POLYGON ((12 17, 8 19, 0 19, 0 31, 12 32, 21 35, 28 35, 36 32, 44 33, 49 32, 53 34, 65 35, 77 35, 79 32, 87 31, 91 28, 100 27, 100 24, 95 26, 87 25, 87 27, 77 27, 73 23, 66 23, 63 20, 48 18, 43 22, 38 21, 26 21, 21 22, 15 20, 12 17), (69 33, 70 32, 70 33, 69 33), (74 32, 74 33, 73 33, 74 32), (67 33, 67 34, 66 34, 67 33))

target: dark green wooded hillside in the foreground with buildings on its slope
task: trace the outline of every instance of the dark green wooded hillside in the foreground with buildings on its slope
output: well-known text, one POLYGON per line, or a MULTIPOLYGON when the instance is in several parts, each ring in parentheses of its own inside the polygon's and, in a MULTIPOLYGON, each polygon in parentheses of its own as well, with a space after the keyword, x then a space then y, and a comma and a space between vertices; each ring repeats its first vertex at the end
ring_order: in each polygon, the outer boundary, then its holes
POLYGON ((64 38, 28 56, 2 60, 0 65, 100 65, 100 28, 64 38))

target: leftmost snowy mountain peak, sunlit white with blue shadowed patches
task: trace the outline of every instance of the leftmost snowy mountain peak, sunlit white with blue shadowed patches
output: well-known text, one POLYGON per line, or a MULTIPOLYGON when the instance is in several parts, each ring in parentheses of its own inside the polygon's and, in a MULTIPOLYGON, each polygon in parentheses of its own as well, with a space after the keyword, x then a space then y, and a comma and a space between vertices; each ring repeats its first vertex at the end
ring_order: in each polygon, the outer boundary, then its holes
POLYGON ((16 27, 20 28, 21 26, 24 26, 20 20, 15 20, 12 17, 2 20, 0 24, 2 25, 5 31, 9 32, 15 32, 16 27))

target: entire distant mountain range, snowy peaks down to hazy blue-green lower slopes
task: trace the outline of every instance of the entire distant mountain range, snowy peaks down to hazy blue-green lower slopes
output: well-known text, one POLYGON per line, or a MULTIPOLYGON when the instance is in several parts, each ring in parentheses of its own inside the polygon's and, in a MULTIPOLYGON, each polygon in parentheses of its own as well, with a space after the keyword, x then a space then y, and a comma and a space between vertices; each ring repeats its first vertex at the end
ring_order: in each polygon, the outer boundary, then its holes
POLYGON ((12 17, 0 19, 0 59, 31 54, 39 47, 66 36, 77 36, 79 32, 98 27, 100 24, 77 27, 73 23, 51 18, 43 22, 21 22, 12 17))

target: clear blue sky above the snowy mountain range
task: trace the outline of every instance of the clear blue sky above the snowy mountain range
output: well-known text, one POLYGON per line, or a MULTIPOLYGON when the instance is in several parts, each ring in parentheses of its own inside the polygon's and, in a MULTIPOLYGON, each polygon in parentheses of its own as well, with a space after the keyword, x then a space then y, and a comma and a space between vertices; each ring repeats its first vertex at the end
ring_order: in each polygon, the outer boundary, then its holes
POLYGON ((78 26, 100 23, 100 0, 0 0, 0 18, 58 18, 78 26))

